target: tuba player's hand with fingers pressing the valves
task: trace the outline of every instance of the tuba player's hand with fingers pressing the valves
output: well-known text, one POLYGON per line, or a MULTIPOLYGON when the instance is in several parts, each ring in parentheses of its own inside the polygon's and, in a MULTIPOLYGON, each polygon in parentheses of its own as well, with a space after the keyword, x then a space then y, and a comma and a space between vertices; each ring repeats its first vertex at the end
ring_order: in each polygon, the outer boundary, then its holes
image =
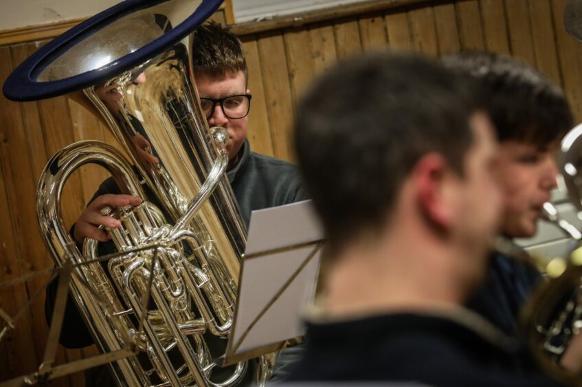
POLYGON ((124 207, 128 204, 137 206, 142 199, 131 195, 102 195, 98 196, 83 213, 75 224, 74 239, 81 244, 87 237, 97 239, 100 242, 106 242, 109 237, 107 233, 100 230, 99 226, 117 228, 120 221, 111 218, 109 215, 102 215, 101 210, 105 207, 124 207))

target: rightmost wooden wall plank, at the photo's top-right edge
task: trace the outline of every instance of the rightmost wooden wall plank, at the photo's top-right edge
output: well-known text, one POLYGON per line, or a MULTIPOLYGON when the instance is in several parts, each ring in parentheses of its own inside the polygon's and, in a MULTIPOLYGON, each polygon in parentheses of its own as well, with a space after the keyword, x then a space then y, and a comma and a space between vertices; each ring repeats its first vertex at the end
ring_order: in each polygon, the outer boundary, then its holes
POLYGON ((582 121, 582 43, 574 40, 563 25, 563 12, 568 0, 552 0, 554 31, 563 89, 574 112, 574 121, 582 121))

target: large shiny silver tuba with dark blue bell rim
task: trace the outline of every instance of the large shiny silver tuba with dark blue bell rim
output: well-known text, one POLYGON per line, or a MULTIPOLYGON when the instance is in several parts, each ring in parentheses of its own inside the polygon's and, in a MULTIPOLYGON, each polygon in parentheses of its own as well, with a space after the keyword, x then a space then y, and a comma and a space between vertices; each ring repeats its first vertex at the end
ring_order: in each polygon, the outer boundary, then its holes
POLYGON ((37 191, 41 233, 56 266, 74 267, 69 293, 98 348, 135 353, 110 363, 120 385, 227 386, 247 373, 260 384, 272 365, 264 356, 221 366, 246 230, 225 176, 228 134, 201 113, 188 37, 220 4, 123 1, 36 51, 4 85, 19 101, 82 89, 124 150, 69 145, 37 191), (122 224, 107 229, 111 259, 93 239, 80 251, 60 217, 63 186, 87 163, 143 199, 102 210, 122 224))

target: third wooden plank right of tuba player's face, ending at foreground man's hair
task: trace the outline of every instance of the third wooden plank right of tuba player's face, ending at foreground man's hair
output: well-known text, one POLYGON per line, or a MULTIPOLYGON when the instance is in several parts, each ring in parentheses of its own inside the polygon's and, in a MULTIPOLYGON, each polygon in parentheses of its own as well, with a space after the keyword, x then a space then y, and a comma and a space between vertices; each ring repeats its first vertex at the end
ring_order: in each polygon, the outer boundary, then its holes
POLYGON ((291 95, 293 96, 293 106, 295 106, 294 111, 296 111, 296 104, 306 86, 313 79, 314 73, 309 31, 305 28, 292 28, 284 32, 283 39, 285 52, 287 52, 291 95))

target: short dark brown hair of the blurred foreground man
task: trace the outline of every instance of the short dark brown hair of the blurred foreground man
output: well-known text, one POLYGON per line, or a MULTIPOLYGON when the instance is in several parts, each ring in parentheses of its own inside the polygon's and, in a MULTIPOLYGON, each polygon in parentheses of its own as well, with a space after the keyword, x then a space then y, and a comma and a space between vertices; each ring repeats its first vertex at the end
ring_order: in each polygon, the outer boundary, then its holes
POLYGON ((367 55, 326 71, 299 104, 295 149, 328 246, 381 230, 425 154, 462 176, 480 108, 473 80, 421 56, 367 55))

